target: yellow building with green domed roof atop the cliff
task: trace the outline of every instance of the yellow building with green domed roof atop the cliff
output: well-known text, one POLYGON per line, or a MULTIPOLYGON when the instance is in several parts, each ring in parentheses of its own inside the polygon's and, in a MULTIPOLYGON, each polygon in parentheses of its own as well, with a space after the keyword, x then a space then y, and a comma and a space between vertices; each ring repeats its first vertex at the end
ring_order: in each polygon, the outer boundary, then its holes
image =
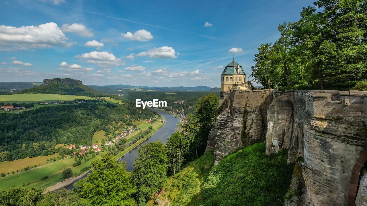
POLYGON ((221 74, 221 92, 228 92, 231 89, 248 89, 245 71, 235 62, 235 58, 221 74))

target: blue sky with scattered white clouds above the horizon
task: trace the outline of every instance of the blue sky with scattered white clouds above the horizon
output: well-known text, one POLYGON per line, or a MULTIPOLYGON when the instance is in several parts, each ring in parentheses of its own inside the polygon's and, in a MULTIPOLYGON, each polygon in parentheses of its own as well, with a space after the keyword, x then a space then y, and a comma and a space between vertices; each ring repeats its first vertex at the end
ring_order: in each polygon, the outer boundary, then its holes
POLYGON ((220 87, 313 1, 0 0, 0 81, 220 87))

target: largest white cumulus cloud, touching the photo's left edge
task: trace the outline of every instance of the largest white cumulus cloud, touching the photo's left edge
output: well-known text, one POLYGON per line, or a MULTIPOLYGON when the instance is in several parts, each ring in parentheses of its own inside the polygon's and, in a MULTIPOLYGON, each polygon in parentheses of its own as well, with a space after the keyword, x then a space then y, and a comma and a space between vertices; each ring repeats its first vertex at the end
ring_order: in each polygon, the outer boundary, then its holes
POLYGON ((75 44, 68 43, 67 40, 62 30, 53 22, 39 26, 0 26, 0 51, 69 47, 75 44))

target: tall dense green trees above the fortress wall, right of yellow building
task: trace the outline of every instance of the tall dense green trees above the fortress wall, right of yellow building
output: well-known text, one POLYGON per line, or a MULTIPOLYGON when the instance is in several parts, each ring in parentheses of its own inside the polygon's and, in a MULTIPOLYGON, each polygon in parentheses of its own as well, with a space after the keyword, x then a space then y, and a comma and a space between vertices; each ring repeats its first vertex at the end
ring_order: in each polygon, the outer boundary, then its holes
POLYGON ((314 4, 299 21, 279 25, 273 45, 258 47, 251 76, 265 88, 350 89, 367 79, 366 2, 314 4))

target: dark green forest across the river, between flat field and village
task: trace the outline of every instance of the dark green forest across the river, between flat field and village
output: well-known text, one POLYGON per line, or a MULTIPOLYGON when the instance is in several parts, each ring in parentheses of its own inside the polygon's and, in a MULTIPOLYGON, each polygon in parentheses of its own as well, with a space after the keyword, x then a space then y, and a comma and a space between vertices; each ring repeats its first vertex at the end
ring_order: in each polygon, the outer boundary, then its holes
MULTIPOLYGON (((154 118, 152 110, 141 113, 126 104, 83 103, 42 107, 22 113, 0 114, 0 162, 55 154, 57 144, 92 144, 95 131, 111 122, 127 125, 154 118)), ((65 154, 65 151, 62 151, 65 154)))

